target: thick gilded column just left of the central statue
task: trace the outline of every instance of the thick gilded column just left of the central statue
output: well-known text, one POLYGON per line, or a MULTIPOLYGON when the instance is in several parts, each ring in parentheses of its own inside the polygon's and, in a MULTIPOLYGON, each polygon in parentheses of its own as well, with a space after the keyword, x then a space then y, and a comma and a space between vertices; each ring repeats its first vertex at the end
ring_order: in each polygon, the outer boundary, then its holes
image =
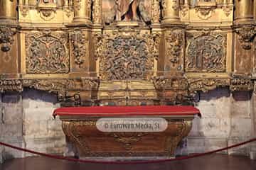
POLYGON ((73 23, 90 25, 91 20, 91 0, 74 0, 73 23))

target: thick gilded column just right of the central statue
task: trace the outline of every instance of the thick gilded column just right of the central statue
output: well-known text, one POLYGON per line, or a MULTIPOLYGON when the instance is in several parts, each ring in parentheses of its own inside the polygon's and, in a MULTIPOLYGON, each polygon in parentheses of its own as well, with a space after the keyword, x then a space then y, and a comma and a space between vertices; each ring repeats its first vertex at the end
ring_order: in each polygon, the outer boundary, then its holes
POLYGON ((162 23, 181 23, 179 17, 179 0, 163 0, 162 23))

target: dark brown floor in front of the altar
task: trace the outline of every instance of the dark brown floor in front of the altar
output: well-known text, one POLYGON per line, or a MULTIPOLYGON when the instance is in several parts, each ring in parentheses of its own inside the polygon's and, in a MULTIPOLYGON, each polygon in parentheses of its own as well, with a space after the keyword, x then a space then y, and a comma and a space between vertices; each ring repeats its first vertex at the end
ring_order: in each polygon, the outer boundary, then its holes
POLYGON ((27 157, 24 159, 10 159, 0 164, 0 170, 82 170, 82 169, 175 169, 175 170, 255 170, 256 161, 248 157, 228 156, 226 154, 212 154, 206 157, 197 157, 176 162, 166 162, 161 164, 135 164, 135 165, 113 165, 113 164, 82 164, 68 162, 45 157, 27 157))

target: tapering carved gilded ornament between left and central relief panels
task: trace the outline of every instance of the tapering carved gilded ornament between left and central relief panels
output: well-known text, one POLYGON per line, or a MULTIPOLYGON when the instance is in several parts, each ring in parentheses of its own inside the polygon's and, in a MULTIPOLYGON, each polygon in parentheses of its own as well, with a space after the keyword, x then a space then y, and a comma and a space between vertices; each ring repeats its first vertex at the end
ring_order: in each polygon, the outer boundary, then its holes
POLYGON ((70 41, 73 45, 73 55, 75 57, 75 64, 81 67, 81 64, 85 62, 85 55, 87 53, 86 46, 88 40, 85 40, 85 34, 80 28, 75 28, 70 35, 70 41))

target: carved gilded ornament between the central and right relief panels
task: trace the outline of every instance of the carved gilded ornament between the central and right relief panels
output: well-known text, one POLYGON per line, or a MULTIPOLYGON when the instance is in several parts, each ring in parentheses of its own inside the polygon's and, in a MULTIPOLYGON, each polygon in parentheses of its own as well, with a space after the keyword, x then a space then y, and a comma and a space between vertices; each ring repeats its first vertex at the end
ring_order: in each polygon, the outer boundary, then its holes
POLYGON ((183 68, 183 47, 185 45, 183 31, 171 30, 166 33, 166 70, 175 68, 181 71, 183 68), (169 68, 167 68, 169 67, 169 68), (171 67, 171 68, 170 68, 171 67))

